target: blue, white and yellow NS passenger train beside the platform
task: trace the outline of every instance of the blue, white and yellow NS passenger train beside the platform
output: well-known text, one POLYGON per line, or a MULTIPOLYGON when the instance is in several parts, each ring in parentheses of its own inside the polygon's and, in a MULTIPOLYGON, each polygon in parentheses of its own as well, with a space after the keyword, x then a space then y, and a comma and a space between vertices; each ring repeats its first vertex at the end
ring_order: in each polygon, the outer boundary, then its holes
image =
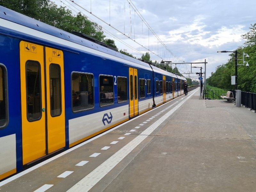
POLYGON ((183 94, 183 77, 0 6, 0 180, 183 94))

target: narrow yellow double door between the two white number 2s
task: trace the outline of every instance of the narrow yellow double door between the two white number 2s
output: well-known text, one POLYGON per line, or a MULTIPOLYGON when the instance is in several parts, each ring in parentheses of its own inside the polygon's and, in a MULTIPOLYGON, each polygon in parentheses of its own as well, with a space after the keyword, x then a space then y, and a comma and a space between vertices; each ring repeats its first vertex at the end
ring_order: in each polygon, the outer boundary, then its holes
POLYGON ((137 116, 138 111, 138 70, 129 68, 130 117, 137 116))

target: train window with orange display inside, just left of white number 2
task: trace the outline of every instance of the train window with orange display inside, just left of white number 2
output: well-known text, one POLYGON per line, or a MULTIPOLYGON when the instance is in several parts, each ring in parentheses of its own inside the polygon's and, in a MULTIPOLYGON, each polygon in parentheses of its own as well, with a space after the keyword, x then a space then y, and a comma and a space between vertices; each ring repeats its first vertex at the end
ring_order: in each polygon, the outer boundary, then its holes
POLYGON ((100 107, 114 103, 113 76, 100 76, 100 107))

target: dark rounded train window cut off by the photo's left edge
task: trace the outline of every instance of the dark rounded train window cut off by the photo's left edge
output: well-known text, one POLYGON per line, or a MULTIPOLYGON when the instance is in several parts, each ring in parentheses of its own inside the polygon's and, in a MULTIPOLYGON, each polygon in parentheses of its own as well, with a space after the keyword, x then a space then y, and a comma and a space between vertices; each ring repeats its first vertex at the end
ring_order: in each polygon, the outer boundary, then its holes
POLYGON ((7 125, 7 75, 6 68, 0 65, 0 128, 7 125))

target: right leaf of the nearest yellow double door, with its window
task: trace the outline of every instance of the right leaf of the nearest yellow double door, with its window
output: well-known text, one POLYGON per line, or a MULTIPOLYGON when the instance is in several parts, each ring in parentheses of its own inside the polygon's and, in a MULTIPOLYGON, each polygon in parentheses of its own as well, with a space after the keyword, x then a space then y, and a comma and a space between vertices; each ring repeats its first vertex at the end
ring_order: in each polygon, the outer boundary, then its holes
POLYGON ((47 147, 52 153, 65 147, 63 52, 45 47, 47 92, 47 147))

